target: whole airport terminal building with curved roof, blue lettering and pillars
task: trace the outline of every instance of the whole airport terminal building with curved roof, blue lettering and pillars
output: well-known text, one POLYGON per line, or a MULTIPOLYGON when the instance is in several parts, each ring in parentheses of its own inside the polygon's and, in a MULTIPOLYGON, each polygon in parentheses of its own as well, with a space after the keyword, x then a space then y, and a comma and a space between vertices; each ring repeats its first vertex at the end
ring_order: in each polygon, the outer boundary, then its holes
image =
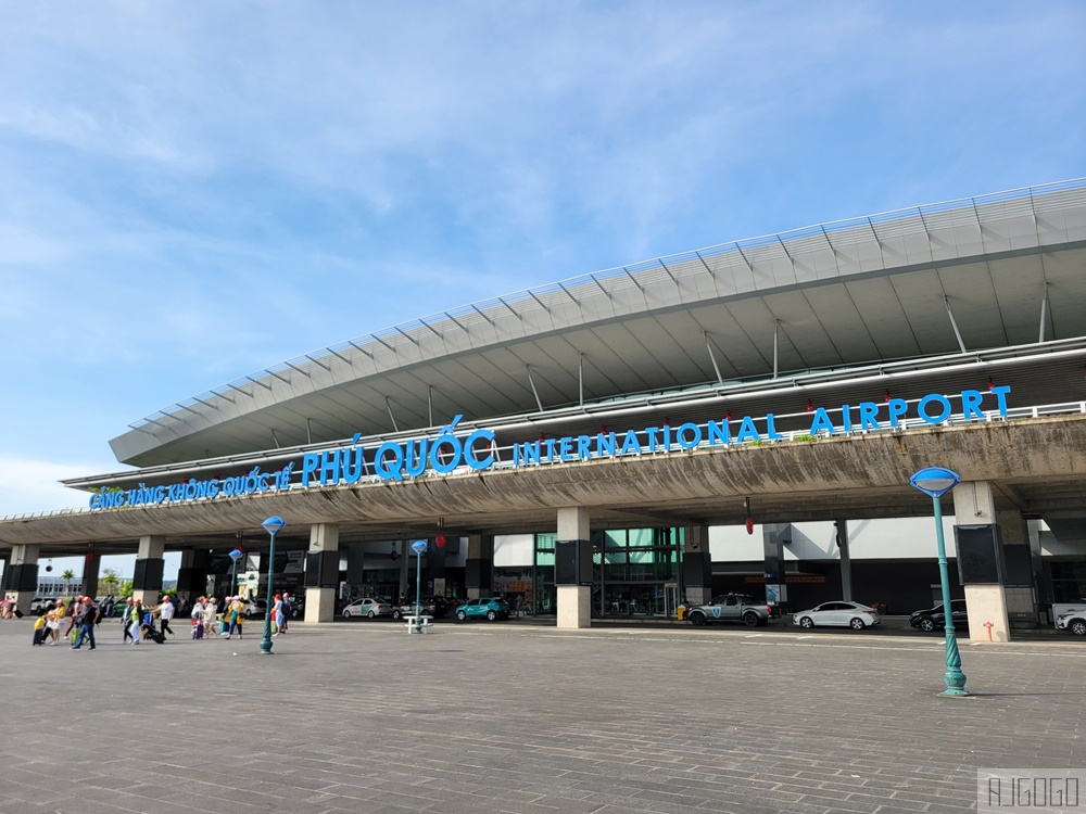
POLYGON ((402 592, 419 538, 429 590, 519 594, 563 626, 725 590, 902 613, 938 582, 909 484, 938 466, 961 478, 948 538, 990 542, 957 585, 971 637, 1003 640, 1086 600, 1086 180, 475 303, 110 443, 127 469, 65 482, 86 509, 0 520, 21 605, 62 556, 87 559, 90 594, 121 552, 156 594, 167 550, 179 592, 230 592, 227 555, 266 570, 278 514, 275 584, 304 589, 308 621, 402 592))

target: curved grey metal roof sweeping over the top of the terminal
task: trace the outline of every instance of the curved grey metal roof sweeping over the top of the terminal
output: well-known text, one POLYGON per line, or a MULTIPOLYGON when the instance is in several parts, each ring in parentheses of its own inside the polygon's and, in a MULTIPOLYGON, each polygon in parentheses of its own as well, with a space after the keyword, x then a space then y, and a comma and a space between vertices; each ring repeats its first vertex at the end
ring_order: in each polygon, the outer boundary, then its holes
POLYGON ((138 466, 1077 336, 1086 179, 598 271, 333 345, 111 441, 138 466))

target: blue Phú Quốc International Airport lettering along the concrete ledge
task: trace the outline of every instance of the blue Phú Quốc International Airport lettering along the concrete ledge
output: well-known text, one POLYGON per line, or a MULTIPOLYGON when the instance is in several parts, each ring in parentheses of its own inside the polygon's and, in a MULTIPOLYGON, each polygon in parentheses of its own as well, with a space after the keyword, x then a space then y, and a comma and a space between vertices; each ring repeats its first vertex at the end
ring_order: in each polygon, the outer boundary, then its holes
MULTIPOLYGON (((809 435, 829 436, 838 433, 895 430, 909 419, 924 424, 946 423, 955 415, 965 420, 984 420, 985 397, 995 400, 1000 417, 1007 416, 1009 386, 994 386, 988 391, 963 390, 945 396, 932 393, 923 398, 907 402, 888 398, 885 403, 861 402, 842 405, 836 410, 823 407, 811 411, 809 435), (841 415, 834 422, 831 412, 841 415)), ((989 406, 988 410, 992 409, 989 406)), ((153 506, 167 503, 212 500, 220 497, 240 497, 267 492, 282 492, 291 487, 313 488, 352 484, 366 479, 378 481, 405 481, 428 474, 445 475, 467 467, 471 471, 485 471, 498 463, 525 467, 545 463, 569 463, 601 458, 654 455, 686 451, 699 447, 718 447, 765 443, 784 440, 776 431, 773 414, 761 418, 744 416, 740 420, 724 418, 705 424, 683 423, 678 427, 664 424, 624 432, 599 432, 595 435, 566 435, 557 438, 520 442, 513 445, 512 461, 500 461, 495 435, 492 430, 476 429, 467 434, 457 433, 462 416, 432 437, 407 441, 386 441, 367 448, 356 434, 350 443, 331 449, 302 455, 301 469, 295 482, 295 462, 274 472, 262 472, 260 467, 249 473, 232 478, 190 479, 182 483, 159 486, 139 486, 130 489, 105 489, 90 497, 91 509, 153 506)))

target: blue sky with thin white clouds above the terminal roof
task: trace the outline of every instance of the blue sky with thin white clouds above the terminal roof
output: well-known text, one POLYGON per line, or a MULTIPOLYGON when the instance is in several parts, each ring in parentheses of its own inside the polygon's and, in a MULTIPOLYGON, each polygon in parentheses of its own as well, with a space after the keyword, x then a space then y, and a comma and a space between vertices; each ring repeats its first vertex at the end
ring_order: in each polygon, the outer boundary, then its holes
POLYGON ((1086 175, 1086 5, 0 0, 0 516, 162 407, 673 252, 1086 175))

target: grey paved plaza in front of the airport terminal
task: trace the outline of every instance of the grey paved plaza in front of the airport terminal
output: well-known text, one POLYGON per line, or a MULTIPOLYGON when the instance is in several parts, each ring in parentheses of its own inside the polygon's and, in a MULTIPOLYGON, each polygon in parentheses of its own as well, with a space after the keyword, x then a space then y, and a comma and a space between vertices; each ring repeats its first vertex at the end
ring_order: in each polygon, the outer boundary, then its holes
MULTIPOLYGON (((178 625, 178 627, 180 627, 178 625)), ((1086 765, 1086 641, 394 623, 31 647, 0 623, 0 814, 957 812, 1086 765)))

